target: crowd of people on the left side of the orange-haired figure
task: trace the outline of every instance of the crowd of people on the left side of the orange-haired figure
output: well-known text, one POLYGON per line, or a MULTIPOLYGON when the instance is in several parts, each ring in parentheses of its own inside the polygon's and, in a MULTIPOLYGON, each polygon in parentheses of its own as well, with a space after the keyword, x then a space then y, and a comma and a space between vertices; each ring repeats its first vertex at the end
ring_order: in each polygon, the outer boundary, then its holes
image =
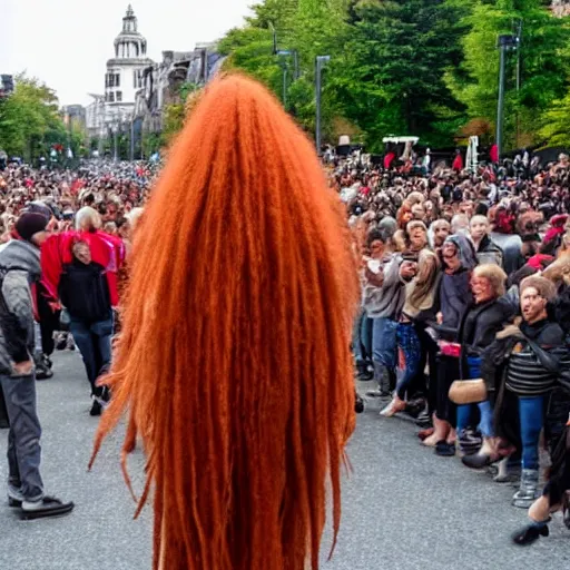
POLYGON ((56 347, 77 345, 90 414, 107 406, 97 380, 110 366, 132 232, 157 170, 88 161, 75 171, 0 171, 0 428, 9 429, 9 503, 24 519, 73 508, 43 491, 35 382, 52 376, 56 347))

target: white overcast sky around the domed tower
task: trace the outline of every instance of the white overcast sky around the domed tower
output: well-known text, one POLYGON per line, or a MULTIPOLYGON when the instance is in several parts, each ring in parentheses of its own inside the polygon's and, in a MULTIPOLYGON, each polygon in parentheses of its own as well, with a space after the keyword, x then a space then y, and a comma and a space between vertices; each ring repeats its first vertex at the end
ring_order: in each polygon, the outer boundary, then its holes
MULTIPOLYGON (((62 105, 105 90, 106 62, 129 1, 0 0, 0 73, 27 71, 57 90, 62 105)), ((255 0, 132 0, 138 30, 155 61, 189 51, 243 23, 255 0)))

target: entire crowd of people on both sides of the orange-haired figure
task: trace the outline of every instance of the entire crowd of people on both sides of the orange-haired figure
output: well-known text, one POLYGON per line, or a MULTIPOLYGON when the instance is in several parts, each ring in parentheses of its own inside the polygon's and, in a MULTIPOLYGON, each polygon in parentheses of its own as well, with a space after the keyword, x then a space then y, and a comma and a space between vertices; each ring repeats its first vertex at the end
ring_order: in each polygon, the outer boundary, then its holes
MULTIPOLYGON (((570 528, 570 161, 525 156, 473 173, 456 158, 432 168, 425 157, 394 157, 374 165, 361 154, 330 155, 325 164, 360 268, 357 379, 375 383, 356 406, 381 399, 384 417, 416 417, 438 455, 515 482, 512 504, 532 519, 518 543, 548 535, 557 510, 570 528)), ((0 312, 9 325, 0 332, 0 422, 18 417, 9 499, 28 518, 72 509, 43 492, 32 384, 51 377, 57 345, 77 345, 91 415, 107 406, 97 379, 110 365, 132 230, 157 173, 158 165, 105 161, 0 173, 0 312), (26 414, 10 410, 14 390, 26 414), (30 446, 23 463, 21 445, 30 446)))

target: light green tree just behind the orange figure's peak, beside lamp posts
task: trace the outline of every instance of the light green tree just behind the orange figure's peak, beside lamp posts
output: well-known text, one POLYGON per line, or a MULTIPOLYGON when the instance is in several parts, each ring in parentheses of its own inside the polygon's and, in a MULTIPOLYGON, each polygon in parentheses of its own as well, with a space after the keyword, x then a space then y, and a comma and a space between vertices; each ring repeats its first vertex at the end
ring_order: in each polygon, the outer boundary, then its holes
POLYGON ((332 56, 325 71, 323 95, 323 132, 333 135, 333 121, 341 112, 333 77, 342 69, 347 32, 347 0, 265 0, 254 6, 254 16, 243 28, 230 30, 219 43, 229 56, 226 69, 239 69, 264 82, 282 99, 285 87, 287 110, 307 132, 315 127, 315 58, 332 56), (297 55, 299 77, 295 77, 293 56, 297 55), (286 68, 286 75, 284 75, 286 68), (284 77, 286 83, 284 86, 284 77))

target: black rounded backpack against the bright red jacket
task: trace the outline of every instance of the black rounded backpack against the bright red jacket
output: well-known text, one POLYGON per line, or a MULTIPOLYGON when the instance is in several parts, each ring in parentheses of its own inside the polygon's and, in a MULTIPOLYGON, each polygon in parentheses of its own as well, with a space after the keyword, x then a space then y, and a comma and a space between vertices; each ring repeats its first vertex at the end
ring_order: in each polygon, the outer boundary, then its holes
POLYGON ((71 318, 97 323, 111 315, 107 272, 95 262, 65 265, 59 281, 59 297, 71 318))

